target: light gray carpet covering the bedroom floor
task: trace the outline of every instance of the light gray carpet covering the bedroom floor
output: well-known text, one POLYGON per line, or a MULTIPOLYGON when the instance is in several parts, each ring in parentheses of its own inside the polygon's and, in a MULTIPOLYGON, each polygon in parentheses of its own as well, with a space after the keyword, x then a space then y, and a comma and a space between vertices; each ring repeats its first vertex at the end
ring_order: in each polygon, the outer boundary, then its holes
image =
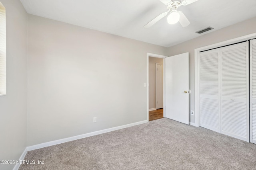
POLYGON ((167 118, 32 150, 20 170, 256 169, 256 145, 167 118))

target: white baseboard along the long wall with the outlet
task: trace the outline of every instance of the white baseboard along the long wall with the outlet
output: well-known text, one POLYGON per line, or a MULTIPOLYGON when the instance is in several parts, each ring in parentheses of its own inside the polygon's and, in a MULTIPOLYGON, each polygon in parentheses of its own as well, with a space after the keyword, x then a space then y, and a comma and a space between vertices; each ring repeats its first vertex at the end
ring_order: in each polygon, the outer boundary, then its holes
POLYGON ((99 134, 102 134, 102 133, 116 131, 116 130, 119 130, 119 129, 124 129, 126 127, 140 125, 140 124, 147 123, 147 122, 148 122, 147 120, 144 120, 144 121, 139 121, 139 122, 135 122, 135 123, 130 123, 128 125, 122 125, 122 126, 118 126, 118 127, 112 127, 112 128, 109 128, 109 129, 103 129, 103 130, 100 130, 100 131, 86 133, 86 134, 83 134, 83 135, 78 135, 78 136, 74 136, 74 137, 68 137, 68 138, 59 139, 59 140, 56 140, 56 141, 51 141, 51 142, 41 143, 41 144, 38 144, 38 145, 33 145, 33 146, 30 146, 30 147, 27 147, 26 149, 27 149, 27 151, 30 151, 30 150, 40 149, 40 148, 44 148, 44 147, 50 147, 52 145, 58 145, 58 144, 61 144, 61 143, 74 141, 74 140, 77 140, 77 139, 82 139, 82 138, 85 138, 85 137, 90 137, 90 136, 99 135, 99 134))

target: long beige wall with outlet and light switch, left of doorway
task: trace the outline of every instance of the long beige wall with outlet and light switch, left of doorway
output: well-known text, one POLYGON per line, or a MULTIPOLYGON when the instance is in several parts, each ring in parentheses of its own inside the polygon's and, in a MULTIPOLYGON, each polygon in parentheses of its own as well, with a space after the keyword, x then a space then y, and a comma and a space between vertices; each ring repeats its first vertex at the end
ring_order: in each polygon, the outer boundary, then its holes
POLYGON ((147 119, 146 53, 166 47, 28 16, 28 146, 147 119))

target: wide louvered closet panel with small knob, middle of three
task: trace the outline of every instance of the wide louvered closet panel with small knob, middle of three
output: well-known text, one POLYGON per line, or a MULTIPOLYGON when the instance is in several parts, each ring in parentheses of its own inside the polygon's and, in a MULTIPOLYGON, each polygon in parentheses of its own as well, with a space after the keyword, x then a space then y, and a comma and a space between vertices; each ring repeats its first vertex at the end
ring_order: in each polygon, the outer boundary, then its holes
POLYGON ((249 142, 248 42, 220 48, 220 131, 249 142))

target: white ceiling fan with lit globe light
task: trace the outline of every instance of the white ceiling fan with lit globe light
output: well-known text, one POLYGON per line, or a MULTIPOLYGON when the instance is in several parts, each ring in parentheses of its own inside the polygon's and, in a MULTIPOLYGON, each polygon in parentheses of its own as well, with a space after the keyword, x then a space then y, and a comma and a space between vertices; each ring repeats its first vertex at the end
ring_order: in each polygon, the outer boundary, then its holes
POLYGON ((180 6, 186 6, 188 4, 191 4, 193 2, 196 2, 198 0, 181 0, 181 1, 172 1, 172 0, 160 0, 162 3, 164 3, 167 6, 168 11, 164 12, 162 14, 160 14, 159 16, 157 16, 156 18, 154 18, 152 21, 150 21, 149 23, 147 23, 144 27, 145 28, 149 28, 152 25, 154 25, 157 21, 161 20, 162 18, 164 18, 169 12, 170 15, 167 17, 167 21, 170 24, 174 24, 177 23, 178 21, 180 22, 180 24, 182 25, 182 27, 186 27, 190 24, 190 22, 188 21, 188 18, 186 18, 186 16, 183 14, 183 12, 181 11, 177 11, 178 8, 180 8, 180 6))

